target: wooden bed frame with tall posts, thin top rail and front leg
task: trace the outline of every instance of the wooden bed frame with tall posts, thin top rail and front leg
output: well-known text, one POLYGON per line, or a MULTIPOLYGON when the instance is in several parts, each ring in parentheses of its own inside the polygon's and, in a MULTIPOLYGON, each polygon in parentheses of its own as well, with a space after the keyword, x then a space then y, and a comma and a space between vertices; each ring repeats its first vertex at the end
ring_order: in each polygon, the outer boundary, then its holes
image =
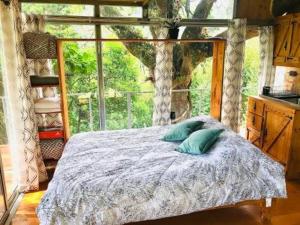
MULTIPOLYGON (((65 84, 65 69, 64 69, 64 56, 63 56, 63 44, 65 42, 123 42, 123 43, 140 43, 140 42, 181 42, 181 43, 199 43, 206 42, 213 44, 213 77, 212 77, 212 86, 211 86, 211 116, 217 120, 221 118, 221 107, 222 107, 222 84, 223 84, 223 69, 224 69, 224 55, 226 41, 220 39, 191 39, 191 40, 168 40, 168 39, 58 39, 57 40, 57 53, 58 53, 58 72, 59 77, 62 79, 61 82, 65 84)), ((67 101, 66 90, 62 90, 62 100, 63 102, 67 101)), ((66 104, 64 104, 65 107, 66 104)), ((69 138, 69 121, 67 109, 64 108, 63 113, 63 123, 66 126, 66 139, 69 138)), ((263 199, 263 200, 249 200, 240 202, 234 205, 220 206, 203 211, 209 211, 214 209, 221 208, 232 208, 245 205, 255 205, 261 209, 261 224, 271 225, 272 217, 272 206, 276 203, 276 199, 263 199)))

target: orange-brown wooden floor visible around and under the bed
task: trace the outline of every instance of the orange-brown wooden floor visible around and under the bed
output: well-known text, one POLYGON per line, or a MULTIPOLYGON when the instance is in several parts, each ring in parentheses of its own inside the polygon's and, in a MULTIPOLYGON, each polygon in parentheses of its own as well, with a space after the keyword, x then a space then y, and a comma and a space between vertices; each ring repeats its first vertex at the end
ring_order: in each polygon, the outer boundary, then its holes
MULTIPOLYGON (((300 225, 300 181, 288 182, 288 198, 278 200, 272 211, 273 225, 300 225)), ((11 225, 37 225, 35 209, 43 191, 26 194, 11 225)), ((254 206, 218 209, 134 225, 259 225, 260 211, 254 206)))

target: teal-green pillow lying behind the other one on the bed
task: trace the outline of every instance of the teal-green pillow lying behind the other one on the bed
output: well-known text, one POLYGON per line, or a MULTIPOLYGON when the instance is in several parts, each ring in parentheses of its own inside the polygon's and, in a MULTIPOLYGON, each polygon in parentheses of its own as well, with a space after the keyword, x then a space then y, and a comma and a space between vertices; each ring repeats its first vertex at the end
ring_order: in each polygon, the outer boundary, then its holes
POLYGON ((184 121, 175 125, 163 138, 163 141, 176 142, 183 141, 196 130, 202 128, 202 121, 184 121))

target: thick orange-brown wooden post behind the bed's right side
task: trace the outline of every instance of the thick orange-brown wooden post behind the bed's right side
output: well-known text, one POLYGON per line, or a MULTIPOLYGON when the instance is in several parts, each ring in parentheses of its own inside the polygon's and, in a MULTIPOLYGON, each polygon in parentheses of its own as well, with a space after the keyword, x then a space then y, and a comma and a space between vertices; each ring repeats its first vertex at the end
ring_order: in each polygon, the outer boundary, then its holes
POLYGON ((225 41, 213 43, 213 76, 211 82, 210 115, 221 120, 225 41))

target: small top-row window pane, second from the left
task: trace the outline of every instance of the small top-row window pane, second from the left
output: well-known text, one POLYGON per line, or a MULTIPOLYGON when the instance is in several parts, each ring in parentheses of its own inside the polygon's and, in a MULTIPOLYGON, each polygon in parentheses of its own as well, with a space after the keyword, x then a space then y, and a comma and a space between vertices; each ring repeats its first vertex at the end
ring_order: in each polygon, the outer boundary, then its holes
POLYGON ((100 13, 103 17, 143 17, 143 9, 138 6, 100 6, 100 13))

